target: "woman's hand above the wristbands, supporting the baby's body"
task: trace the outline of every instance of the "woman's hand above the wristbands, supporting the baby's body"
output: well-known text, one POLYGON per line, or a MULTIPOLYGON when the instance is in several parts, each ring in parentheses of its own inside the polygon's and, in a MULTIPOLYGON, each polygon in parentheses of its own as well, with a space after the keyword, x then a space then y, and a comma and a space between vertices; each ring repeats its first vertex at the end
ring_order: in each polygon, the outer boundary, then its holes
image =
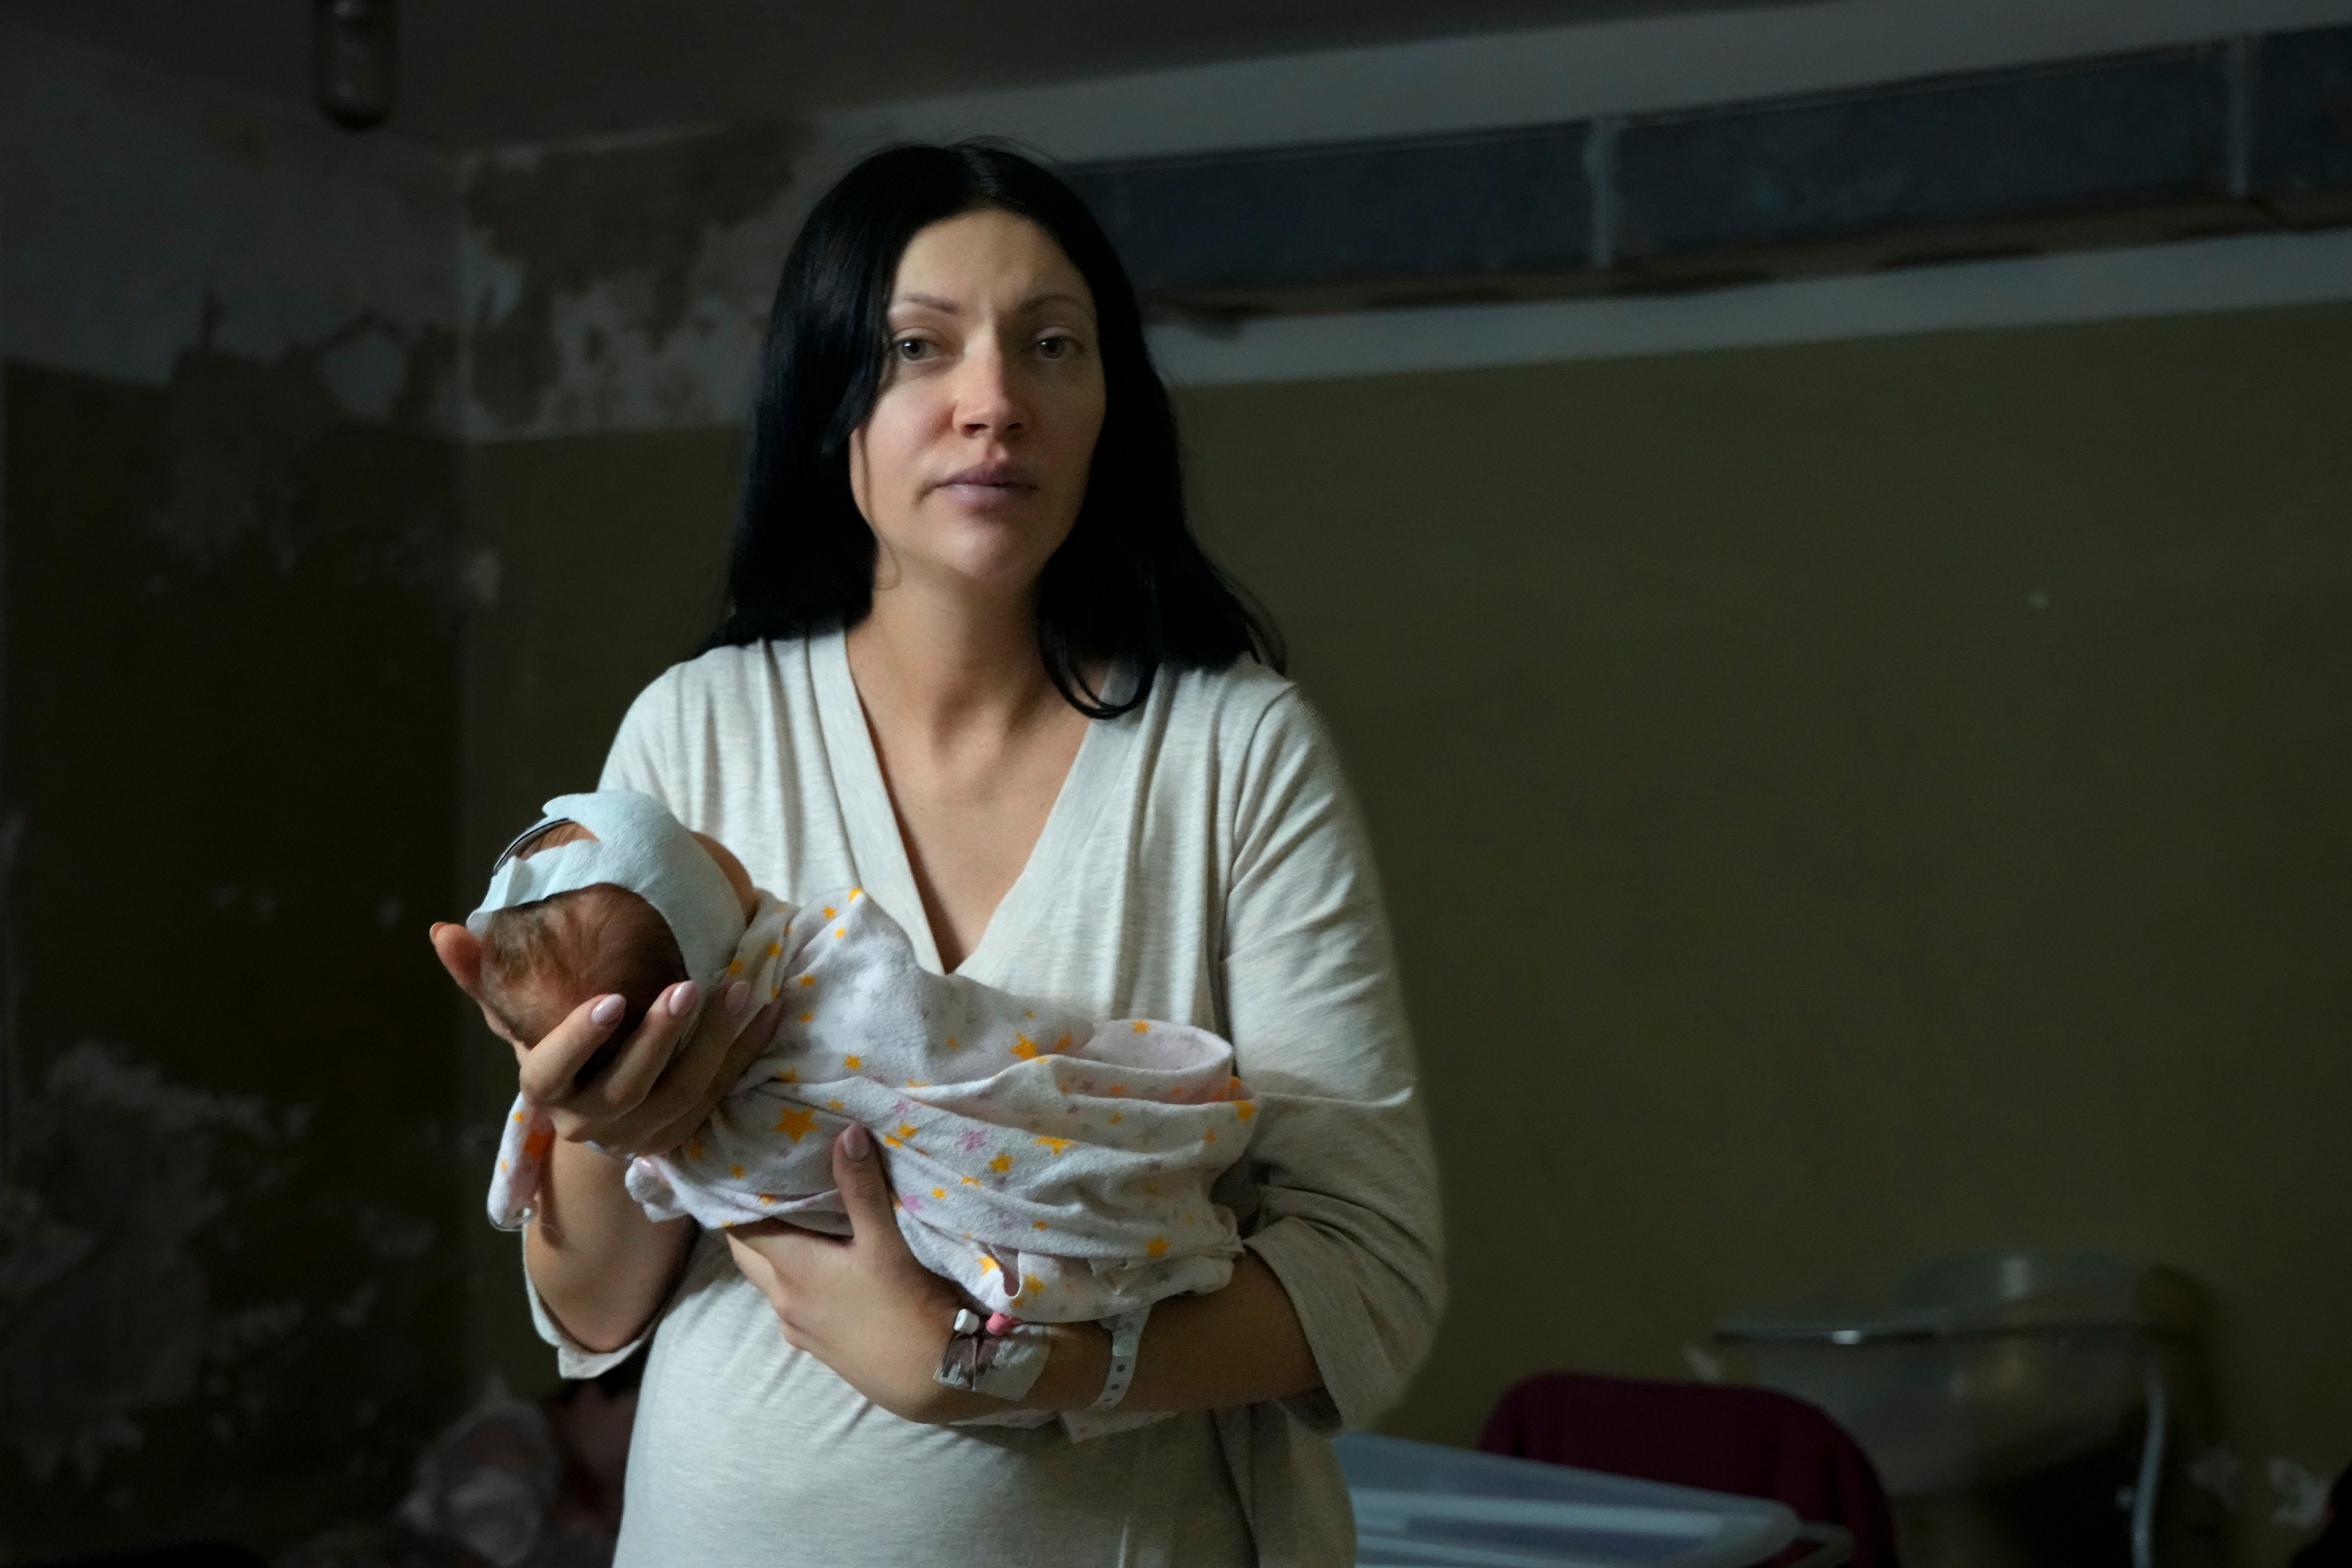
POLYGON ((783 1338, 903 1420, 938 1425, 1004 1410, 1002 1399, 934 1380, 964 1302, 915 1262, 898 1234, 889 1178, 863 1126, 849 1124, 833 1140, 833 1180, 849 1211, 847 1239, 781 1220, 727 1232, 736 1267, 767 1295, 783 1338))

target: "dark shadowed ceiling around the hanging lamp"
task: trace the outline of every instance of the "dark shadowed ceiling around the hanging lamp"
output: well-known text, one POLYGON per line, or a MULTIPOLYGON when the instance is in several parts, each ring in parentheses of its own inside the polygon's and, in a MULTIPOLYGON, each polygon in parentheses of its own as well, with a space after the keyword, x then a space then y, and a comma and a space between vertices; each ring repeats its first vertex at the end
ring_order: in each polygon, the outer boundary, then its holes
MULTIPOLYGON (((445 148, 1736 0, 402 0, 390 129, 445 148)), ((310 103, 308 0, 0 0, 0 16, 310 103)))

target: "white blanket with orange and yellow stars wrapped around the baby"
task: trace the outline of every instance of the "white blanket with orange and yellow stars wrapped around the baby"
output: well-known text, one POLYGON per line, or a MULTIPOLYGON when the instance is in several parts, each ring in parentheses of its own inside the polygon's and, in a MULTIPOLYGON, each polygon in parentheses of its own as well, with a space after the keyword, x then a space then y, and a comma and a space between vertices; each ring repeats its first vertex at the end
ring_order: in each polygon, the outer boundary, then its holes
MULTIPOLYGON (((652 1218, 847 1234, 833 1138, 863 1121, 915 1258, 983 1312, 1077 1324, 1232 1276, 1240 1237, 1209 1185, 1256 1105, 1228 1041, 931 973, 858 889, 797 910, 762 893, 727 973, 786 1013, 694 1138, 630 1164, 652 1218)), ((515 1100, 489 1185, 503 1229, 529 1218, 550 1140, 515 1100)))

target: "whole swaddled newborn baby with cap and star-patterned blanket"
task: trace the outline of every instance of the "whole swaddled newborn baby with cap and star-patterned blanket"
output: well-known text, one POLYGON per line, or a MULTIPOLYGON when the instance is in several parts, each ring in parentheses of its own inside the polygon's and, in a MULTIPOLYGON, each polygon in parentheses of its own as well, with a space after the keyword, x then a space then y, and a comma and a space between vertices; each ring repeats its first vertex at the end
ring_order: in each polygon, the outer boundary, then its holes
MULTIPOLYGON (((663 987, 748 980, 786 1009, 769 1051, 710 1121, 640 1157, 628 1192, 656 1220, 849 1229, 833 1138, 884 1147, 898 1229, 981 1312, 1105 1319, 1232 1276, 1240 1239, 1209 1185, 1256 1107, 1232 1046, 1178 1023, 1089 1023, 915 959, 861 889, 788 905, 717 842, 633 790, 564 795, 501 856, 468 917, 482 1001, 536 1044, 595 994, 626 1039, 663 987)), ((553 1128, 520 1098, 489 1218, 529 1218, 553 1128)))

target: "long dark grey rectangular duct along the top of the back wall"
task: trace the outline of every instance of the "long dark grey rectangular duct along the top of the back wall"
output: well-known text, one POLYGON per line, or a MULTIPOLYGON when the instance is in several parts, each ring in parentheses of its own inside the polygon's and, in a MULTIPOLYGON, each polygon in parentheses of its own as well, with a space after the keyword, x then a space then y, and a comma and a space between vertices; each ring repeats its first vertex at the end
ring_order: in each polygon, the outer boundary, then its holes
POLYGON ((1209 317, 2345 223, 2352 28, 1073 176, 1145 299, 1209 317))

